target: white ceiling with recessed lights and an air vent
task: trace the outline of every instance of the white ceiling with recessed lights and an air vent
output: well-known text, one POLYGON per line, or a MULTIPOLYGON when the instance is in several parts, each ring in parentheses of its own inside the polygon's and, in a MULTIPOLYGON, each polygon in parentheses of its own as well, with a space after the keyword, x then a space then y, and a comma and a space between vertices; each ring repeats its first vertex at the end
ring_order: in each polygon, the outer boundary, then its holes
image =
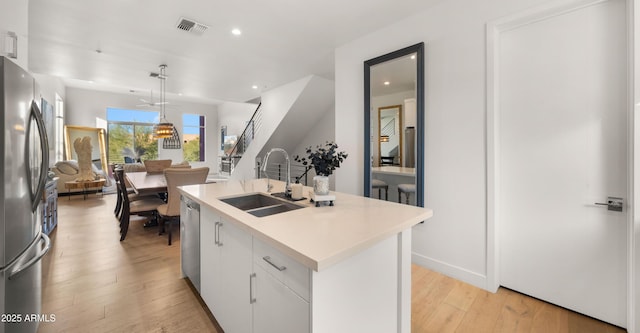
POLYGON ((160 89, 149 74, 167 64, 167 100, 243 102, 310 74, 333 79, 336 47, 442 1, 30 0, 29 70, 149 99, 160 89), (180 17, 209 29, 178 30, 180 17))

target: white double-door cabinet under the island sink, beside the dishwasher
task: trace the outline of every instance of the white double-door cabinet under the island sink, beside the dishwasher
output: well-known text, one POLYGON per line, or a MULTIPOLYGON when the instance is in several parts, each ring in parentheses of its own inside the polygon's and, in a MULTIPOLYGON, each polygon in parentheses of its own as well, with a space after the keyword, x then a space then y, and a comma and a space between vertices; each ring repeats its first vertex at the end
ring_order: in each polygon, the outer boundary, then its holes
POLYGON ((251 236, 202 209, 202 298, 226 332, 251 332, 251 236))

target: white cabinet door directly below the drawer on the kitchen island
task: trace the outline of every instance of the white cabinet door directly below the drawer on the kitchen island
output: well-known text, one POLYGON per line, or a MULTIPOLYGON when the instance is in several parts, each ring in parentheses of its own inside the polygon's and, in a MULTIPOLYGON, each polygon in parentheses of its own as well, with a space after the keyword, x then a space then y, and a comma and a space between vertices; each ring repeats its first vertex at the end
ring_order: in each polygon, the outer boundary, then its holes
POLYGON ((256 265, 253 284, 253 332, 309 332, 309 302, 256 265))

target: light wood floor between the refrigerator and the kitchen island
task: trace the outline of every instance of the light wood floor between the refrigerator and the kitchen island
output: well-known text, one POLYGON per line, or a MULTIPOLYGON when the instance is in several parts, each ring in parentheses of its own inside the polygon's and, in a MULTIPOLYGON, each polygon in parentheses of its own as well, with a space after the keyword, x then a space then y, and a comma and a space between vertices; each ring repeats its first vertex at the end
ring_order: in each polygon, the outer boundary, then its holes
POLYGON ((58 227, 43 261, 38 332, 217 332, 186 280, 180 242, 133 221, 120 242, 115 195, 58 198, 58 227))

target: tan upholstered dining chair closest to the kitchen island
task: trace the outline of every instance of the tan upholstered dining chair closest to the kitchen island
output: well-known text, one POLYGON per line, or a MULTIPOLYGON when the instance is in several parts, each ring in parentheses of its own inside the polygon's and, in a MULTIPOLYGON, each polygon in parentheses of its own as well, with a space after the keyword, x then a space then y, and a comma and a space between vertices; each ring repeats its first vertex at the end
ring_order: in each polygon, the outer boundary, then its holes
POLYGON ((180 221, 180 192, 177 187, 182 185, 204 184, 209 174, 208 167, 202 168, 169 168, 164 170, 164 178, 167 181, 167 203, 158 206, 160 215, 160 233, 165 230, 168 234, 168 243, 171 245, 171 223, 176 218, 180 221))

